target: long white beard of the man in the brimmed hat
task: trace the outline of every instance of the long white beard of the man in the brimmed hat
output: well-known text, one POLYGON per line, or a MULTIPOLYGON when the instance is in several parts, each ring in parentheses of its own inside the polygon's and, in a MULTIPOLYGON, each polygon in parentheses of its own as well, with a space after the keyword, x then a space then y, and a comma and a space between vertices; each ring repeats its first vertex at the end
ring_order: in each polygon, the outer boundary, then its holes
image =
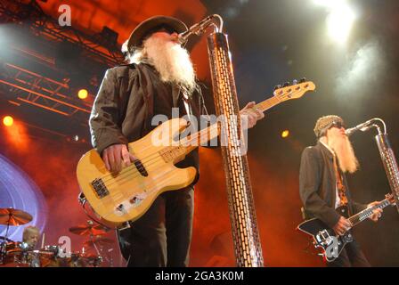
POLYGON ((182 46, 162 38, 149 37, 143 47, 149 63, 159 72, 161 81, 175 83, 190 94, 196 89, 190 55, 182 46))

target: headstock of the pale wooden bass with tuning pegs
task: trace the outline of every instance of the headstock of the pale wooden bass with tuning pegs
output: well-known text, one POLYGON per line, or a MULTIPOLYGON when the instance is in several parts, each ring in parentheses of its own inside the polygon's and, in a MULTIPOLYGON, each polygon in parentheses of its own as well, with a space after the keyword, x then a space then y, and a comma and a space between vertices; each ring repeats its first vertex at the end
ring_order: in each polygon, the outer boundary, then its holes
POLYGON ((292 84, 286 82, 284 85, 274 87, 274 96, 278 97, 281 102, 302 97, 308 91, 314 91, 316 85, 312 81, 305 81, 305 78, 293 80, 292 84))

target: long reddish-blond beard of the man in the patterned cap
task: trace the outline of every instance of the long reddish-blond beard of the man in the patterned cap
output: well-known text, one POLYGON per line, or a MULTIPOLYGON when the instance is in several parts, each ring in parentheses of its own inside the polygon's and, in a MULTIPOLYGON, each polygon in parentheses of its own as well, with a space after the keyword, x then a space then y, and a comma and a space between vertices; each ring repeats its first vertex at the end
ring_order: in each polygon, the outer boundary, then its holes
POLYGON ((354 148, 349 138, 339 137, 336 140, 330 140, 329 144, 338 157, 339 168, 342 172, 354 173, 359 167, 359 161, 354 155, 354 148))

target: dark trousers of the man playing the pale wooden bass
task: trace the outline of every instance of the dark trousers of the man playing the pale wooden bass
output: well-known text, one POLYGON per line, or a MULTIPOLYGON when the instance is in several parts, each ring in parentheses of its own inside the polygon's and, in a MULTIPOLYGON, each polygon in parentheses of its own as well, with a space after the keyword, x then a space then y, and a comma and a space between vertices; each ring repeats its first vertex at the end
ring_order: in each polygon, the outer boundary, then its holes
POLYGON ((130 228, 118 231, 128 267, 183 267, 189 264, 194 189, 167 191, 130 228))

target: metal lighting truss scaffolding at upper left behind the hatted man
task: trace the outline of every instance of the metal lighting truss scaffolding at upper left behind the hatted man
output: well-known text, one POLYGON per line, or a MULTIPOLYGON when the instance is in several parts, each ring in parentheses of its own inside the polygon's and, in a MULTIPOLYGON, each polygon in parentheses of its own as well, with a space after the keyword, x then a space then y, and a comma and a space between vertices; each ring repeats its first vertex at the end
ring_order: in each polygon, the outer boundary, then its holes
MULTIPOLYGON (((61 27, 58 20, 46 15, 35 0, 0 0, 0 23, 12 23, 28 35, 42 39, 45 45, 52 46, 55 50, 61 46, 66 46, 67 49, 76 48, 79 51, 77 61, 82 64, 84 60, 83 64, 90 70, 85 71, 88 72, 89 78, 103 72, 103 68, 116 66, 124 61, 124 56, 115 41, 107 43, 102 34, 88 35, 73 27, 61 27)), ((39 61, 47 68, 56 70, 56 73, 68 74, 70 71, 68 67, 57 64, 59 58, 56 54, 52 57, 40 48, 34 51, 31 46, 12 46, 12 50, 18 56, 23 55, 32 61, 39 61)), ((52 78, 52 73, 47 76, 40 73, 42 69, 35 69, 33 65, 2 59, 0 61, 2 99, 17 106, 23 104, 49 110, 86 126, 94 95, 89 94, 87 99, 80 100, 77 98, 75 88, 71 87, 74 78, 67 75, 61 76, 63 79, 60 79, 61 77, 56 77, 55 73, 52 78)), ((90 85, 90 82, 86 82, 86 85, 90 85)), ((98 87, 98 78, 96 87, 98 87)))

